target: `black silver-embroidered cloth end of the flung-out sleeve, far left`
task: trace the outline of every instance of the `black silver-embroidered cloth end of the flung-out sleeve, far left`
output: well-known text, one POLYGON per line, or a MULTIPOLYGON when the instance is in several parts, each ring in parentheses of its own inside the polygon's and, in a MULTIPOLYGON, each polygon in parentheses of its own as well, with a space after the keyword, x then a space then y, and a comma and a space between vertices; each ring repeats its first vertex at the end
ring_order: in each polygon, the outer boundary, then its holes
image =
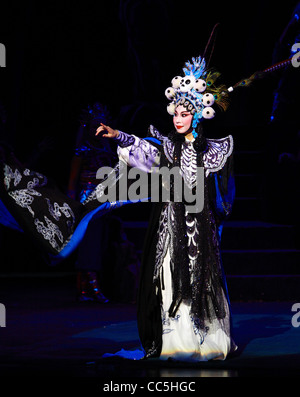
POLYGON ((23 167, 12 153, 6 153, 0 164, 1 200, 28 236, 46 253, 56 255, 82 219, 84 207, 62 193, 51 179, 23 167), (9 187, 5 183, 5 169, 19 175, 18 179, 11 179, 9 187), (23 205, 12 197, 14 194, 21 197, 22 191, 25 192, 23 205), (32 202, 26 202, 26 197, 32 202), (39 228, 45 228, 44 234, 39 228))

